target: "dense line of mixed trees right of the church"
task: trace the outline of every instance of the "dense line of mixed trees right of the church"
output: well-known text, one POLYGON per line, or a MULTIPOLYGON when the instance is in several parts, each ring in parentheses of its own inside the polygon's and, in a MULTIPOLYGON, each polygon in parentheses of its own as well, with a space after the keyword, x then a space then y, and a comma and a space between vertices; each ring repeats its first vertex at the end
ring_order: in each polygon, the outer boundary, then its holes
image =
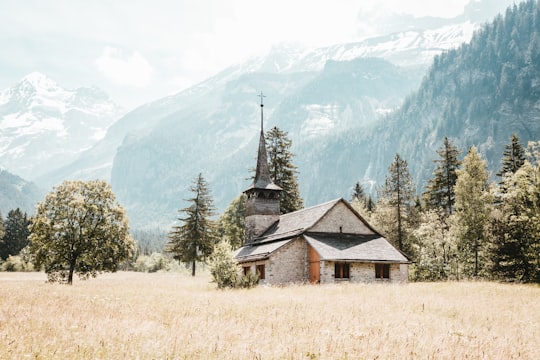
POLYGON ((461 153, 444 139, 421 195, 396 154, 377 201, 357 183, 353 204, 414 261, 412 280, 540 283, 540 143, 512 135, 496 183, 474 146, 461 153))

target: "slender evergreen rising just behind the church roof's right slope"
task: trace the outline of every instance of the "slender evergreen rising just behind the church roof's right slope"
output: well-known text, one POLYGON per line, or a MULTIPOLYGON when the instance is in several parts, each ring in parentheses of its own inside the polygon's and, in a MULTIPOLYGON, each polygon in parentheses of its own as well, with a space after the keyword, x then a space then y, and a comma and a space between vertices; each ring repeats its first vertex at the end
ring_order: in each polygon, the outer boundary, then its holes
MULTIPOLYGON (((399 250, 410 252, 411 248, 405 244, 407 239, 407 225, 410 219, 411 206, 414 200, 414 184, 409 173, 407 161, 396 154, 394 161, 388 168, 385 185, 380 192, 380 203, 391 209, 391 219, 394 224, 393 231, 385 234, 389 240, 397 244, 399 250)), ((377 206, 379 211, 379 206, 377 206)), ((382 211, 382 209, 381 209, 382 211)))

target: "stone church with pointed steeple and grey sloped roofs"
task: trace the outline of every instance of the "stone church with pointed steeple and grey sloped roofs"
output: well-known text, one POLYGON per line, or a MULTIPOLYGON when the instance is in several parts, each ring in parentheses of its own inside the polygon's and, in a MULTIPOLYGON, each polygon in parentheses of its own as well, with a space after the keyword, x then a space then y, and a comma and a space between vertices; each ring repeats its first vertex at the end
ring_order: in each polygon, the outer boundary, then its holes
MULTIPOLYGON (((261 94, 262 100, 262 94, 261 94)), ((282 189, 270 178, 263 129, 246 200, 246 242, 235 259, 260 284, 407 282, 411 260, 344 199, 280 214, 282 189)))

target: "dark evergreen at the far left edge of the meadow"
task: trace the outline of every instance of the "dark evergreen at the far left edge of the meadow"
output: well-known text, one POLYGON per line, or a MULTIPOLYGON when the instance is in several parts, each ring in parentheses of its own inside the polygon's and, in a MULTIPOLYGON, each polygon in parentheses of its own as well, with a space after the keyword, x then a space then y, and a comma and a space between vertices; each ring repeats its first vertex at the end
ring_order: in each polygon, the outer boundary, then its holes
POLYGON ((10 210, 4 222, 5 235, 0 243, 0 258, 5 260, 10 255, 18 255, 28 245, 28 226, 30 221, 26 213, 19 208, 10 210))

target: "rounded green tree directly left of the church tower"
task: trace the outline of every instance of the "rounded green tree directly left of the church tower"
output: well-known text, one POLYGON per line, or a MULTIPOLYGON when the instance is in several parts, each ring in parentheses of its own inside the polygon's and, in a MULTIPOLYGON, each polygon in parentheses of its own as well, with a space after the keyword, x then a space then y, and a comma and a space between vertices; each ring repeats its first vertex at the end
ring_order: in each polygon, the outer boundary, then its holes
POLYGON ((222 240, 227 241, 233 249, 238 249, 244 245, 245 239, 245 214, 246 195, 236 197, 225 209, 219 218, 219 234, 222 240))

